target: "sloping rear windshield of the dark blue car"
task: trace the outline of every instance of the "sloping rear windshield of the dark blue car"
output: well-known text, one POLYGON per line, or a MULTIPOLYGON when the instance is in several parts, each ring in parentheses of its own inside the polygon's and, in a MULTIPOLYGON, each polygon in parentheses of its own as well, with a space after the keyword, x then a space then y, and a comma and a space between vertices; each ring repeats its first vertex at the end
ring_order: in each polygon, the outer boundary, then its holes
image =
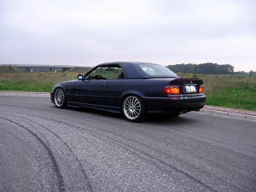
POLYGON ((177 74, 173 73, 169 68, 152 63, 140 63, 137 65, 148 77, 166 78, 177 77, 177 74))

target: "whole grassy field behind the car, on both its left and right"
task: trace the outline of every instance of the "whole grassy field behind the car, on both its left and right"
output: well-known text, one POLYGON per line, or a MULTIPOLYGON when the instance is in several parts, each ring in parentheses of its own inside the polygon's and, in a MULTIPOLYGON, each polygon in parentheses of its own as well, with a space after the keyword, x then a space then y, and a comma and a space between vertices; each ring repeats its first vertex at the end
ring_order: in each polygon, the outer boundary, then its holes
MULTIPOLYGON (((0 70, 0 90, 49 92, 61 81, 77 79, 78 73, 11 73, 0 70)), ((191 74, 179 74, 191 78, 191 74)), ((256 77, 198 75, 204 80, 207 105, 256 111, 256 77)))

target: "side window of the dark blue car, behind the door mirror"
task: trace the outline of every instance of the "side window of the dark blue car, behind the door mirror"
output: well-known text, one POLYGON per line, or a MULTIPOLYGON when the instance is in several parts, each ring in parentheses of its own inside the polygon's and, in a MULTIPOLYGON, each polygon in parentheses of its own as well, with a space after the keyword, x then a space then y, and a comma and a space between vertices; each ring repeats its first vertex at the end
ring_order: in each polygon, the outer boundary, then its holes
POLYGON ((124 73, 119 65, 104 65, 96 67, 85 79, 124 79, 124 73))

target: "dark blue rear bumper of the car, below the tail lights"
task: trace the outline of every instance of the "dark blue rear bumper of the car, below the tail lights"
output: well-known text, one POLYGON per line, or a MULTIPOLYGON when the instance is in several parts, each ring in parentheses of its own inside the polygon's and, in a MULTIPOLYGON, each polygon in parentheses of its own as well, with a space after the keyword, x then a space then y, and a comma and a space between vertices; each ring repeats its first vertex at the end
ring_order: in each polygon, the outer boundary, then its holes
POLYGON ((203 108, 207 96, 170 96, 170 97, 144 97, 148 113, 172 113, 198 111, 203 108))

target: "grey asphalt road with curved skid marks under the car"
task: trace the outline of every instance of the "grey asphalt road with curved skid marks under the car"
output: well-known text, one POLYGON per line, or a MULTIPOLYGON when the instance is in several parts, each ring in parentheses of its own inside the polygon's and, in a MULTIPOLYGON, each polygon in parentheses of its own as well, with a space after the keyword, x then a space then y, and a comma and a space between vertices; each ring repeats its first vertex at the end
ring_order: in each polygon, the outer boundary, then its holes
POLYGON ((0 96, 0 191, 256 191, 256 123, 187 113, 134 124, 0 96))

